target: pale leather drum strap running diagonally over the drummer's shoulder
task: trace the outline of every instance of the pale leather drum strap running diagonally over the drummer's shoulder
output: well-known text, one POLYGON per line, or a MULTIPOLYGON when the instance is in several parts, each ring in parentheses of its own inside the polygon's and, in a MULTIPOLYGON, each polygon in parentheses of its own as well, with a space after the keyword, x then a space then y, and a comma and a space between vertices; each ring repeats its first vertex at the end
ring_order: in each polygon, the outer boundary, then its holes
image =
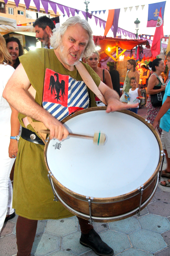
POLYGON ((77 70, 79 71, 80 76, 82 77, 83 81, 85 82, 85 84, 87 85, 87 87, 94 92, 94 94, 96 94, 96 96, 105 104, 106 100, 103 97, 103 94, 101 93, 101 91, 99 90, 99 88, 97 87, 97 85, 95 84, 94 80, 92 79, 92 77, 90 76, 89 72, 87 71, 87 69, 84 67, 84 65, 79 61, 75 67, 77 68, 77 70))

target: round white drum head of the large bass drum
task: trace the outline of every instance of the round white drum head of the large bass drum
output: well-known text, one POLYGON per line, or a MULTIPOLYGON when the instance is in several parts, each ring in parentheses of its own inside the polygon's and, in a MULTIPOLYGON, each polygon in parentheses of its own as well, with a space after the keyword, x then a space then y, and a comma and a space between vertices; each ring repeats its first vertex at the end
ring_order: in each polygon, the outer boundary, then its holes
POLYGON ((75 193, 95 198, 117 197, 146 183, 157 168, 160 149, 155 135, 129 114, 90 111, 64 125, 70 133, 94 136, 100 131, 107 136, 104 146, 79 138, 49 142, 50 171, 75 193))

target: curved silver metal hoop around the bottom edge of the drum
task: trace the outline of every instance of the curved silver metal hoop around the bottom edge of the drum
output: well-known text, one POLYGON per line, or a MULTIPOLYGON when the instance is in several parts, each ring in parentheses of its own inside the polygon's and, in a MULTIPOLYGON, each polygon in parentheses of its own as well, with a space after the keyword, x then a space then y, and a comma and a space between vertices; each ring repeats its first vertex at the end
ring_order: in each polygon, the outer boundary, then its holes
MULTIPOLYGON (((152 199, 156 189, 157 189, 157 185, 158 185, 158 178, 159 178, 159 174, 157 175, 157 181, 156 181, 156 184, 155 184, 155 187, 150 195, 150 197, 141 205, 141 207, 145 207, 145 205, 148 204, 148 202, 152 199)), ((56 192, 56 195, 57 195, 57 198, 59 199, 59 201, 68 209, 68 211, 72 212, 73 214, 75 214, 76 216, 81 216, 84 217, 84 218, 89 218, 90 216, 89 215, 86 215, 86 214, 83 214, 83 213, 80 213, 76 210, 74 210, 73 208, 71 208, 68 204, 66 204, 62 199, 61 197, 58 195, 57 191, 55 190, 56 192)), ((120 220, 122 218, 126 218, 128 217, 129 215, 132 215, 132 214, 135 214, 137 211, 139 210, 139 207, 137 207, 136 209, 132 210, 131 212, 128 212, 128 213, 125 213, 125 214, 122 214, 122 215, 119 215, 119 216, 114 216, 114 217, 92 217, 92 219, 95 221, 95 220, 98 220, 98 221, 104 221, 104 222, 107 222, 107 221, 116 221, 116 220, 120 220)))

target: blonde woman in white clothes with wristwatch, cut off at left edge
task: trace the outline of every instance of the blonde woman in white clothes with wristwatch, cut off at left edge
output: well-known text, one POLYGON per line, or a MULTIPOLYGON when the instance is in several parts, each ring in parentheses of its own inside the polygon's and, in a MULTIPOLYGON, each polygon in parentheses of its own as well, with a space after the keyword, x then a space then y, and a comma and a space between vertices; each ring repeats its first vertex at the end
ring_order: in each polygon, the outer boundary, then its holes
POLYGON ((20 128, 18 112, 2 97, 5 85, 15 70, 8 64, 12 64, 12 58, 6 48, 5 39, 0 34, 0 133, 1 145, 3 145, 0 161, 0 231, 4 221, 15 217, 12 209, 13 189, 10 172, 17 156, 18 142, 10 139, 10 134, 18 135, 20 128))

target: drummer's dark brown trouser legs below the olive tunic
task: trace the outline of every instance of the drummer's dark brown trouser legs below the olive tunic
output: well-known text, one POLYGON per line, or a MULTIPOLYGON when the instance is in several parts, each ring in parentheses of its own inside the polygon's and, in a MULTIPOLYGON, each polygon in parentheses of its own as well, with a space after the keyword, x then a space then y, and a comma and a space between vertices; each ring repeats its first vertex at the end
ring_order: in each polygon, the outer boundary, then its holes
MULTIPOLYGON (((92 225, 88 224, 88 220, 78 217, 80 229, 83 234, 87 234, 92 225)), ((30 256, 36 234, 38 220, 32 220, 18 216, 16 225, 16 238, 18 253, 17 256, 30 256)))

